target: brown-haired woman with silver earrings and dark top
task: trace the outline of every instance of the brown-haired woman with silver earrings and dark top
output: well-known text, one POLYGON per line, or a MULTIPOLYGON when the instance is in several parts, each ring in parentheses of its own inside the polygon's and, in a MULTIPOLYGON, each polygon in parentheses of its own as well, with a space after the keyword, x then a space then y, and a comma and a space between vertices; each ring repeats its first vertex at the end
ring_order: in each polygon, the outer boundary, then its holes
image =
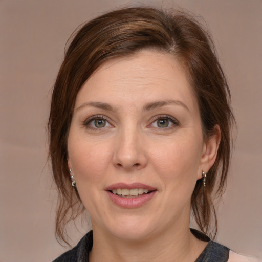
POLYGON ((212 40, 189 15, 127 8, 85 24, 54 86, 50 156, 58 238, 83 209, 93 231, 55 261, 248 261, 208 237, 233 120, 212 40))

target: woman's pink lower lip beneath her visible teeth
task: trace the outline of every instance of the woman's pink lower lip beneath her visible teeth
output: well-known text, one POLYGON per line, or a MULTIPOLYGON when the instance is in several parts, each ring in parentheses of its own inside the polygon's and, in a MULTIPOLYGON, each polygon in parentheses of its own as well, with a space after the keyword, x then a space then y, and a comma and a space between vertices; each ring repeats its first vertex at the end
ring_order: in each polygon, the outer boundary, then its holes
POLYGON ((156 194, 157 190, 152 191, 148 194, 138 195, 138 197, 136 198, 121 198, 119 197, 119 195, 113 194, 110 191, 106 192, 114 204, 124 208, 136 208, 144 205, 149 200, 151 200, 152 197, 154 197, 154 195, 156 194))

